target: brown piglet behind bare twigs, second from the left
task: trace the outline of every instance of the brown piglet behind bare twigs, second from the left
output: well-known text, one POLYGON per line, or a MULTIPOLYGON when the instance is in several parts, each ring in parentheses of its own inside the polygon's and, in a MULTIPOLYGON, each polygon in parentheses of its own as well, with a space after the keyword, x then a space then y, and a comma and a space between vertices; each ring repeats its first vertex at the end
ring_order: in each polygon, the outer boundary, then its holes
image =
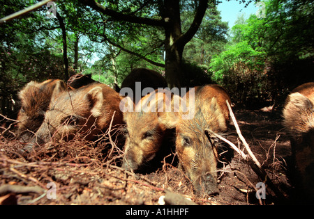
POLYGON ((52 97, 45 120, 25 149, 54 140, 69 140, 81 134, 95 140, 109 129, 123 124, 119 94, 105 84, 92 83, 52 97))

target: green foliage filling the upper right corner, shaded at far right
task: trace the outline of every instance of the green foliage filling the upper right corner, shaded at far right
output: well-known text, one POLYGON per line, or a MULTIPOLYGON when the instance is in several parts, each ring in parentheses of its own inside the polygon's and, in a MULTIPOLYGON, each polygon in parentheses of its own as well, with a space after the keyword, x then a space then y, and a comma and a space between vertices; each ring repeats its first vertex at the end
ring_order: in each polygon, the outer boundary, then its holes
POLYGON ((212 78, 233 94, 235 102, 282 101, 287 88, 314 81, 313 3, 263 2, 266 17, 251 15, 245 21, 239 17, 230 45, 209 65, 212 78), (310 63, 307 68, 301 66, 304 58, 310 63))

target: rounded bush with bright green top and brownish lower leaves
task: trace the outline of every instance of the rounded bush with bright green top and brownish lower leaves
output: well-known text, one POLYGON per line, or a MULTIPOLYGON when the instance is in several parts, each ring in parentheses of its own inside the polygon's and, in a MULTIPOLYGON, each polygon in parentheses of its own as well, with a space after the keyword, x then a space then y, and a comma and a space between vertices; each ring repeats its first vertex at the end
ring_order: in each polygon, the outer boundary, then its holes
POLYGON ((255 51, 247 41, 234 44, 215 56, 210 67, 212 79, 227 88, 236 102, 260 98, 267 86, 264 53, 255 51))

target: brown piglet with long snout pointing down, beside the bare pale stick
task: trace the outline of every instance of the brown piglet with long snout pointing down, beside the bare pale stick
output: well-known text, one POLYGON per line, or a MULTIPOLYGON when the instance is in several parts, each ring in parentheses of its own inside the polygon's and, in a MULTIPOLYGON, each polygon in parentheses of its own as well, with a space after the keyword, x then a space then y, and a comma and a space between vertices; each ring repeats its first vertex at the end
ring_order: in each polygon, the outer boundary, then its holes
POLYGON ((168 124, 176 128, 176 152, 179 165, 193 183, 198 195, 218 193, 217 161, 220 143, 214 136, 205 131, 215 133, 227 130, 229 111, 226 100, 230 97, 220 86, 207 85, 195 87, 186 94, 188 111, 193 111, 188 119, 184 119, 184 111, 179 116, 171 117, 168 124), (193 101, 191 101, 193 99, 193 101))

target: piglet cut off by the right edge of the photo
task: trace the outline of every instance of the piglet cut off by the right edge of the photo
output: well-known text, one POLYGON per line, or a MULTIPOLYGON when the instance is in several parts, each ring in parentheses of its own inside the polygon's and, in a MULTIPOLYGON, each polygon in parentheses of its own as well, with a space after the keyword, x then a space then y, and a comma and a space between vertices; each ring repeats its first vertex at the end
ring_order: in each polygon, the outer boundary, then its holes
POLYGON ((314 83, 305 83, 287 97, 283 125, 292 147, 292 181, 301 201, 314 200, 314 83))

